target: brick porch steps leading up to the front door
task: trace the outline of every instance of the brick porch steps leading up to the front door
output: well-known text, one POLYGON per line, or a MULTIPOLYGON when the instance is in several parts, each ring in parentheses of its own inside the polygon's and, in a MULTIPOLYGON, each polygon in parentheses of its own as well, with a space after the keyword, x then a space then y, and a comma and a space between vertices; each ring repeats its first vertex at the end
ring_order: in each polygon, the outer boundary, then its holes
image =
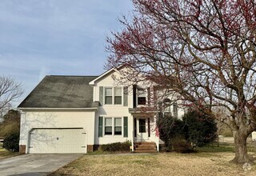
POLYGON ((154 142, 134 142, 134 152, 155 153, 157 152, 157 146, 154 142))

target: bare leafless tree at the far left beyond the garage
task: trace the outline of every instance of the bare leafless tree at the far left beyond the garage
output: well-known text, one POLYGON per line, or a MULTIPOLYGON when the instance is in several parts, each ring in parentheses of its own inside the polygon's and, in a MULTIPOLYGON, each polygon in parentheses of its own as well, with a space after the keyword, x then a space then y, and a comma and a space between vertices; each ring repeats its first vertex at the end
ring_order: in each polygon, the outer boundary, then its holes
POLYGON ((11 103, 23 94, 21 83, 5 76, 0 77, 0 118, 12 107, 11 103))

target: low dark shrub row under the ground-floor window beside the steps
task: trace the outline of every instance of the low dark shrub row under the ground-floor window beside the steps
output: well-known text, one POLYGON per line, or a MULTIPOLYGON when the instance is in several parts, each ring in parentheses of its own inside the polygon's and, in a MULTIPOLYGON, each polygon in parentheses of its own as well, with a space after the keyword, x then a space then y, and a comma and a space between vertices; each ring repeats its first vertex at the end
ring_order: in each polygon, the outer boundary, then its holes
POLYGON ((110 151, 110 152, 115 152, 115 151, 130 151, 130 146, 131 143, 129 141, 127 142, 115 142, 115 143, 110 143, 110 144, 104 144, 100 147, 100 150, 102 151, 110 151))

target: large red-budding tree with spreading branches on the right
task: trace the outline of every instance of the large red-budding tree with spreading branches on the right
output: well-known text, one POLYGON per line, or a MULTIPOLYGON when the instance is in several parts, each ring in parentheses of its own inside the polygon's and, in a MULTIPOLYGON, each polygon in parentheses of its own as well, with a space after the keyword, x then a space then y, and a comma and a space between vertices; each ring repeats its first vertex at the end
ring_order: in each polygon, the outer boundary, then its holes
MULTIPOLYGON (((234 162, 250 162, 246 138, 256 130, 256 2, 133 0, 121 32, 107 38, 107 66, 124 65, 170 86, 211 117, 229 124, 234 162), (172 83, 170 83, 172 82, 172 83), (218 109, 225 109, 220 117, 218 109)), ((123 73, 139 82, 129 71, 123 73)))

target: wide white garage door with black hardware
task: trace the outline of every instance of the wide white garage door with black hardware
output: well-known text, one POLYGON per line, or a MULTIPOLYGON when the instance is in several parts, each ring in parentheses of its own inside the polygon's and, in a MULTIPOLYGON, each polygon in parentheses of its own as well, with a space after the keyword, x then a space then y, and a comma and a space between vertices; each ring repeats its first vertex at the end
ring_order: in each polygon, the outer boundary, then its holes
POLYGON ((30 131, 29 153, 86 153, 83 129, 34 129, 30 131))

